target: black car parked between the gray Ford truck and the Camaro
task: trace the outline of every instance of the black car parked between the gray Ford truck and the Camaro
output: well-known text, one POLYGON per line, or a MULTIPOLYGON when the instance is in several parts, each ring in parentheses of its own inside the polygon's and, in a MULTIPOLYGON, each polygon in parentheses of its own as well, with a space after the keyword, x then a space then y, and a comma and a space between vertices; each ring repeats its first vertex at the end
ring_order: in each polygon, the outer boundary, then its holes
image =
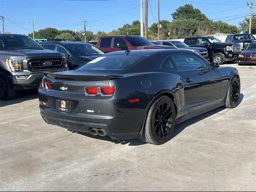
POLYGON ((68 58, 68 68, 73 70, 78 66, 88 62, 102 54, 101 50, 92 46, 90 44, 82 42, 72 42, 72 41, 46 41, 40 42, 40 45, 45 49, 56 50, 60 53, 63 53, 68 58))

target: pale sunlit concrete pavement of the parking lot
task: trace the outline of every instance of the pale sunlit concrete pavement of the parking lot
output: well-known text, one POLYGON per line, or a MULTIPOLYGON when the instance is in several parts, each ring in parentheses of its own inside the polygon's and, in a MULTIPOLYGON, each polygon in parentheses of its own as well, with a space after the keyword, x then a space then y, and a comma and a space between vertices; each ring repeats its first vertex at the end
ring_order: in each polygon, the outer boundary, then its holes
POLYGON ((178 124, 161 146, 48 125, 36 90, 0 101, 0 191, 256 191, 256 68, 238 71, 237 108, 178 124))

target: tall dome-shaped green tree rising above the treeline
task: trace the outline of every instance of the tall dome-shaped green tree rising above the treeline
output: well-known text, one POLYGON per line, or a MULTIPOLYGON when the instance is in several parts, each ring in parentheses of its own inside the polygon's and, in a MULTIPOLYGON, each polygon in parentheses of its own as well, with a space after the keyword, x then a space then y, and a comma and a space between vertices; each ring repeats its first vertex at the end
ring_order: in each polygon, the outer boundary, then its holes
POLYGON ((185 4, 176 9, 176 12, 172 13, 173 20, 176 19, 194 19, 197 21, 206 21, 209 20, 205 14, 202 14, 199 9, 194 9, 191 4, 185 4))

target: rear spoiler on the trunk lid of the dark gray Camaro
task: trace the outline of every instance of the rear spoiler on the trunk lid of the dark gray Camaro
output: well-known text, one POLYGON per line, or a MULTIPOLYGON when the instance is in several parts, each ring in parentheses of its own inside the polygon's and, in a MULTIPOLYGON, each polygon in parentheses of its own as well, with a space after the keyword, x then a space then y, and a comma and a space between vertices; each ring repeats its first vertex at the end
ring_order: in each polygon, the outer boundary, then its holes
POLYGON ((110 80, 122 77, 122 75, 71 75, 71 74, 54 74, 51 72, 44 72, 44 75, 52 79, 70 80, 70 81, 98 81, 110 80))

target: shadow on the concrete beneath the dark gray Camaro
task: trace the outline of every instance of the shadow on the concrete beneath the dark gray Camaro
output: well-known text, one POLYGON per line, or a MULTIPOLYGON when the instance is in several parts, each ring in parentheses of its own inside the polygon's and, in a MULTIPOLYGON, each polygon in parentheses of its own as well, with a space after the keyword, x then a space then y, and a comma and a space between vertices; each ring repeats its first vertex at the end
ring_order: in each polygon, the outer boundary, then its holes
MULTIPOLYGON (((243 94, 240 94, 240 99, 238 101, 238 105, 242 102, 244 98, 244 95, 243 94)), ((203 120, 205 118, 208 118, 209 116, 212 116, 222 110, 225 110, 224 107, 218 107, 214 110, 210 110, 206 113, 203 113, 199 116, 196 116, 192 119, 189 119, 189 120, 186 120, 180 124, 177 124, 174 128, 174 131, 172 133, 172 136, 170 138, 170 140, 172 140, 172 138, 176 137, 178 134, 180 134, 180 132, 182 132, 186 127, 200 121, 200 120, 203 120)), ((69 130, 70 132, 72 133, 76 133, 76 134, 80 134, 80 135, 83 135, 83 136, 86 136, 86 137, 90 137, 90 138, 93 138, 93 139, 98 139, 98 140, 105 140, 105 141, 109 141, 109 142, 112 142, 112 143, 115 143, 115 144, 122 144, 122 145, 126 145, 128 144, 128 146, 139 146, 139 145, 144 145, 146 143, 140 141, 139 139, 126 139, 126 140, 114 140, 112 138, 110 138, 109 136, 99 136, 99 135, 92 135, 92 134, 89 134, 89 133, 84 133, 84 132, 77 132, 77 131, 72 131, 72 130, 69 130)), ((170 141, 169 140, 169 141, 170 141)))

